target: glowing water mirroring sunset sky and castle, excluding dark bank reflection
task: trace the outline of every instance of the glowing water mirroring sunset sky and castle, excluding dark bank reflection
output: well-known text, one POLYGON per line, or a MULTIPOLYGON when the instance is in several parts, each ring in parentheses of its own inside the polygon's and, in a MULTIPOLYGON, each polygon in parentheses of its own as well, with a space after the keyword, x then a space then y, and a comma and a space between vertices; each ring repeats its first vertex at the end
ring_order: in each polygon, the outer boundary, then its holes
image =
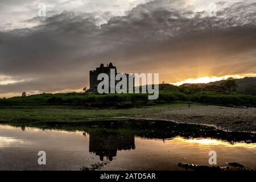
POLYGON ((217 164, 243 163, 256 167, 256 143, 212 138, 148 139, 134 134, 101 130, 59 131, 32 127, 23 129, 0 125, 0 170, 6 169, 73 169, 110 160, 104 169, 180 169, 177 163, 208 165, 208 152, 217 152, 217 164), (38 151, 47 153, 46 166, 38 166, 38 151), (13 163, 17 163, 15 166, 13 163), (24 164, 26 161, 26 164, 24 164))

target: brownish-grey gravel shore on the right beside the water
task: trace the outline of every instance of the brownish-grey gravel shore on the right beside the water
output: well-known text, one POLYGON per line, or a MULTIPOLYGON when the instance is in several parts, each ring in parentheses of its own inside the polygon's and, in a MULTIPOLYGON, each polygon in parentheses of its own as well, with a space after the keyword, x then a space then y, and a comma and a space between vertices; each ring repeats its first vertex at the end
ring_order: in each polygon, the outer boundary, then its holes
POLYGON ((233 108, 222 106, 191 106, 164 109, 160 113, 137 115, 150 119, 196 123, 216 126, 229 131, 256 133, 256 108, 233 108))

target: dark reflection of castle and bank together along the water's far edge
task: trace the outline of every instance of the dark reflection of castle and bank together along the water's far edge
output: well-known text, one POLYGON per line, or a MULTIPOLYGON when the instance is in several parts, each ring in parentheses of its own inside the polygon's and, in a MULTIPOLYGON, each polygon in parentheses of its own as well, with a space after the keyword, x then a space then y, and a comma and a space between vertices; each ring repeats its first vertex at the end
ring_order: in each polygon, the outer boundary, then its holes
POLYGON ((254 135, 251 133, 226 132, 203 125, 189 125, 183 123, 174 123, 167 121, 142 121, 131 120, 123 121, 105 121, 90 123, 95 127, 88 127, 89 133, 89 152, 100 156, 103 160, 106 157, 112 161, 117 156, 118 150, 135 149, 135 136, 146 139, 168 140, 175 137, 191 138, 213 138, 226 140, 230 143, 246 141, 246 143, 255 143, 254 135), (122 130, 118 130, 122 129, 122 130))

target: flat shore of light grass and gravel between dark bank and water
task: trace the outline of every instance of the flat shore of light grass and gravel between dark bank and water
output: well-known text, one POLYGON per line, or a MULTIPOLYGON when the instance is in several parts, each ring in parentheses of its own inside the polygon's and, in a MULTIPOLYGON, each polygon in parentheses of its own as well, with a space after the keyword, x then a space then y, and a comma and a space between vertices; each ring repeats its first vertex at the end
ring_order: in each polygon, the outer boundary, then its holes
POLYGON ((191 104, 167 104, 132 109, 75 109, 59 106, 0 109, 2 124, 109 121, 145 119, 216 127, 223 131, 256 133, 256 109, 191 104))

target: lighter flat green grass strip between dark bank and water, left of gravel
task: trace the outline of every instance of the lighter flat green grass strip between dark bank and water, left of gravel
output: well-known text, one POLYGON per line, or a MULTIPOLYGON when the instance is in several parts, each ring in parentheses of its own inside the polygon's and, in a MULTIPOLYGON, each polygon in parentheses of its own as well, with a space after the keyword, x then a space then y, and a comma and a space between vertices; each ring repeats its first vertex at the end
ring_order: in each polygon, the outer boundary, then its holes
POLYGON ((185 103, 175 103, 131 109, 76 109, 68 106, 2 108, 0 109, 0 122, 83 122, 112 117, 135 117, 187 105, 185 103))

